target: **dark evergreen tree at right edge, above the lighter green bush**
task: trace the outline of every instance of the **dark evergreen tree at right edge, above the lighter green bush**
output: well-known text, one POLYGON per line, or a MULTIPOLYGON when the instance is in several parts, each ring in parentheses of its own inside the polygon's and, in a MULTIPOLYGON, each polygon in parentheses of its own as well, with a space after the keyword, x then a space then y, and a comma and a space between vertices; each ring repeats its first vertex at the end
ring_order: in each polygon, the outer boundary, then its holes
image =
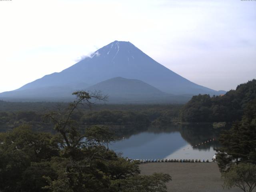
POLYGON ((248 103, 240 122, 235 122, 230 130, 222 132, 217 160, 221 171, 232 164, 244 162, 256 164, 256 99, 248 103))

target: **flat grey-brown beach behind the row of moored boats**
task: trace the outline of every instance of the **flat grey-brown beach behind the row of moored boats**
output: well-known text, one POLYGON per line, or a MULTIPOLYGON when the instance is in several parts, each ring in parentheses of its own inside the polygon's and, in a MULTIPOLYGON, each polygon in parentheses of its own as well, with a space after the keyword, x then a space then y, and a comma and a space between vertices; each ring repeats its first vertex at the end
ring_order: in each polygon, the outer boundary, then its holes
MULTIPOLYGON (((140 164, 141 174, 168 173, 172 181, 168 192, 241 192, 239 188, 223 189, 217 163, 146 163, 140 164)), ((254 189, 254 192, 256 190, 254 189)))

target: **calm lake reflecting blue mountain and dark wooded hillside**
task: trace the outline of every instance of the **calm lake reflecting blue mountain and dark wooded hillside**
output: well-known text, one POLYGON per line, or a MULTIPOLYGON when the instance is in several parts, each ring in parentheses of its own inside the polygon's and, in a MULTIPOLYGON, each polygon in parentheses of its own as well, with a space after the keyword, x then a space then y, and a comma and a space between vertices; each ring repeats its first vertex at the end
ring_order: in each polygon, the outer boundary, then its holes
POLYGON ((131 159, 212 160, 214 148, 219 146, 218 134, 204 126, 150 127, 120 138, 110 148, 131 159))

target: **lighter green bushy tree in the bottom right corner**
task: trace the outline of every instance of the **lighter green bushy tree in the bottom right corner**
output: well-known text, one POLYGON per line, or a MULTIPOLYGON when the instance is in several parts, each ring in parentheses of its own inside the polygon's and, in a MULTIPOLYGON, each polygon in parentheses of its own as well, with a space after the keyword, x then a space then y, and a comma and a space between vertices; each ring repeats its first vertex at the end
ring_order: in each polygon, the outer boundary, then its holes
POLYGON ((252 192, 256 186, 256 165, 251 163, 232 165, 228 172, 222 173, 222 178, 226 188, 236 186, 244 192, 252 192))

